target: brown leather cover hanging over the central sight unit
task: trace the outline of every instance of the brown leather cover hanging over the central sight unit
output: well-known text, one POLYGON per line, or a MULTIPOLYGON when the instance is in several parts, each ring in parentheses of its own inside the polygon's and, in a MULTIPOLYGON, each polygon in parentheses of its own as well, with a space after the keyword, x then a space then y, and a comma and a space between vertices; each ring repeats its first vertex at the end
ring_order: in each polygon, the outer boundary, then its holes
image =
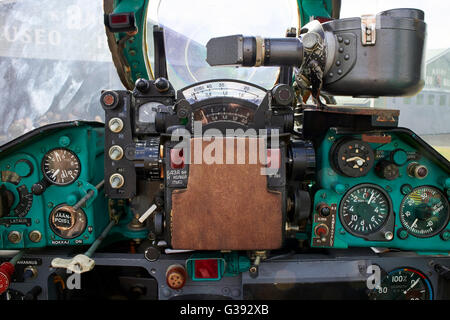
MULTIPOLYGON (((194 139, 191 139, 193 159, 194 139)), ((249 164, 249 141, 257 138, 216 138, 223 145, 223 164, 189 167, 188 186, 172 194, 171 234, 174 249, 258 250, 282 244, 281 194, 267 190, 260 161, 249 164), (246 164, 226 164, 225 139, 245 139, 246 164)), ((205 150, 211 142, 203 141, 205 150)), ((210 147, 211 148, 211 147, 210 147)), ((231 146, 233 148, 233 146, 231 146)), ((213 153, 214 155, 214 153, 213 153)))

